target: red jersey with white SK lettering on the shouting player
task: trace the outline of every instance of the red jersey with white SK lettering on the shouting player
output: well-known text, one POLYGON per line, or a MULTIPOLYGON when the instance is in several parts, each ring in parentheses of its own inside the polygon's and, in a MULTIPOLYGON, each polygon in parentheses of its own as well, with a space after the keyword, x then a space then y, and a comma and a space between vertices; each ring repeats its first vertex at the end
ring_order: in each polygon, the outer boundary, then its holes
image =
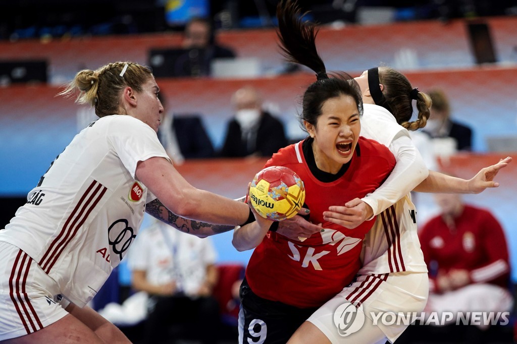
POLYGON ((323 212, 373 192, 390 174, 395 158, 386 146, 359 137, 345 173, 322 182, 311 173, 302 143, 282 148, 265 167, 289 167, 300 176, 306 190, 304 207, 311 210, 309 221, 323 223, 325 231, 303 242, 268 232, 250 258, 246 279, 261 298, 307 308, 323 305, 352 282, 361 266, 362 239, 374 223, 373 219, 347 229, 324 221, 323 212))

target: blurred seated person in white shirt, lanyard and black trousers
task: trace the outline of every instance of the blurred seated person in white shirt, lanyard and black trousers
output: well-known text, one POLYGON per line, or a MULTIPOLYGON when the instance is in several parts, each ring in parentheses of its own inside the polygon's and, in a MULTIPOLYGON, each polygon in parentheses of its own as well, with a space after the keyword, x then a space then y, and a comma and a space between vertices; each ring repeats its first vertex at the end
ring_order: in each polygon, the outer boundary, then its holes
POLYGON ((145 338, 170 342, 171 325, 181 324, 189 339, 213 344, 220 325, 219 304, 212 296, 219 278, 215 248, 210 238, 152 221, 135 240, 129 259, 132 287, 149 294, 145 338))

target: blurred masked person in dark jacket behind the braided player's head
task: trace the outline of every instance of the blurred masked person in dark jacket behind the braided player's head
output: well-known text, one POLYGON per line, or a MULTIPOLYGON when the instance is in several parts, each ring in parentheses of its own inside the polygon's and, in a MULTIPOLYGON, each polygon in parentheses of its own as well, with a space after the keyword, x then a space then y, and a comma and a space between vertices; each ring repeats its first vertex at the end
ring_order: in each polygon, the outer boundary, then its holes
POLYGON ((450 105, 445 92, 440 89, 431 89, 428 91, 428 95, 431 97, 433 105, 423 131, 432 138, 453 138, 456 150, 471 150, 472 129, 450 118, 450 105))

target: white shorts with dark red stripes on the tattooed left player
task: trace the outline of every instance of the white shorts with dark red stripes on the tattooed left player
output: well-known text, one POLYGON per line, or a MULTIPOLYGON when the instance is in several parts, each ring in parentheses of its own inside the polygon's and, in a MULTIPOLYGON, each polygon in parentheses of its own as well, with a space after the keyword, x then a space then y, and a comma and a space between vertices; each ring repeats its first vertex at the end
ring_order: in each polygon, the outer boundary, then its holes
POLYGON ((0 242, 0 341, 43 329, 66 316, 69 304, 31 257, 0 242))

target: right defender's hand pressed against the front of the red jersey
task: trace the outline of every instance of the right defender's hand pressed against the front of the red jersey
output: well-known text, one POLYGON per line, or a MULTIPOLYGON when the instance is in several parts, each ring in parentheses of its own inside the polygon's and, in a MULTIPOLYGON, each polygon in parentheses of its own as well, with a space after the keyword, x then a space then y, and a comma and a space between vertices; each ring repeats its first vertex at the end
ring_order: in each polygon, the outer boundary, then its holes
POLYGON ((373 216, 372 207, 360 198, 346 202, 345 206, 331 206, 323 212, 326 221, 354 229, 373 216))

